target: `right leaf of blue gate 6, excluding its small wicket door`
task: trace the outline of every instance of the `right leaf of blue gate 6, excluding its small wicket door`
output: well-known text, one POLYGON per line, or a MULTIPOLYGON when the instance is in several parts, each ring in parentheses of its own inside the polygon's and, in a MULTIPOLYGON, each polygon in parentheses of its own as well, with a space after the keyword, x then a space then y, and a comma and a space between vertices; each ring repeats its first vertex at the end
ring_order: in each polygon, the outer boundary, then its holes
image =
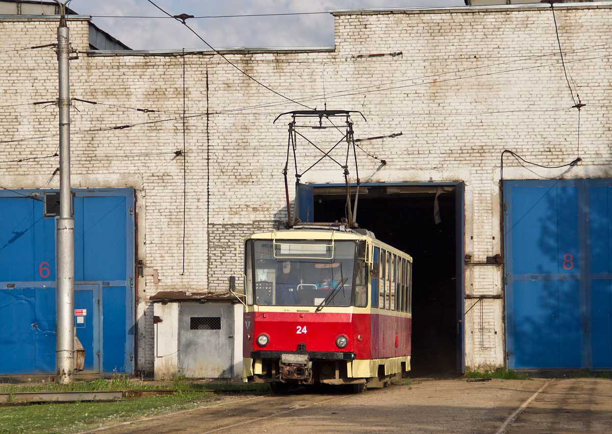
MULTIPOLYGON (((75 282, 102 284, 100 372, 133 372, 133 190, 77 191, 75 282)), ((75 305, 76 307, 76 305, 75 305)))

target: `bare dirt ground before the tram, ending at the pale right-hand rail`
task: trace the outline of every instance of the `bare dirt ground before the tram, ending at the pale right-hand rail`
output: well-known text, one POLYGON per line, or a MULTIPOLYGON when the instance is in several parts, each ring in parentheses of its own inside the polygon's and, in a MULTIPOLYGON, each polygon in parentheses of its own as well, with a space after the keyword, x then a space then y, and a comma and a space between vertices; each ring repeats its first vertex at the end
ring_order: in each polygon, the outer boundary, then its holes
POLYGON ((362 394, 323 389, 265 395, 144 419, 103 432, 495 433, 547 381, 416 380, 362 394))

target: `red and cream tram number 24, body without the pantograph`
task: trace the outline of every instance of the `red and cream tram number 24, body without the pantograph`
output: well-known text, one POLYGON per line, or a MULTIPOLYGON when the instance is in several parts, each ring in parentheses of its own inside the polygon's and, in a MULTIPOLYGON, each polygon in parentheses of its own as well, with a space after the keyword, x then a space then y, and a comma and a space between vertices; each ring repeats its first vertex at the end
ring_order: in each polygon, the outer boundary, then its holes
POLYGON ((411 256, 338 223, 242 241, 245 381, 364 391, 408 372, 411 256))

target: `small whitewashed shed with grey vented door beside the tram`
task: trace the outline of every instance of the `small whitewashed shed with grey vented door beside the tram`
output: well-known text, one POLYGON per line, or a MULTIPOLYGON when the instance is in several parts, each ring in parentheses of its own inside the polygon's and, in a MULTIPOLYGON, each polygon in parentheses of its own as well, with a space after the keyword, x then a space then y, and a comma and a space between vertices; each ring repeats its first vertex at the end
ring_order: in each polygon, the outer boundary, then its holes
POLYGON ((242 378, 243 306, 230 293, 151 296, 155 379, 242 378))

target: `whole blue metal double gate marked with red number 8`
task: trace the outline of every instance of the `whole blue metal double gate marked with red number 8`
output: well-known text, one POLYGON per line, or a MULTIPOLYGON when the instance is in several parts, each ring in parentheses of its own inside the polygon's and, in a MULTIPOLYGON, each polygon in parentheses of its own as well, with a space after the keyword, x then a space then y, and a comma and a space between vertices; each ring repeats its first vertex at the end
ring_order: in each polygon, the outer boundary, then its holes
POLYGON ((610 187, 593 182, 504 182, 511 368, 610 366, 612 202, 602 200, 610 187))

